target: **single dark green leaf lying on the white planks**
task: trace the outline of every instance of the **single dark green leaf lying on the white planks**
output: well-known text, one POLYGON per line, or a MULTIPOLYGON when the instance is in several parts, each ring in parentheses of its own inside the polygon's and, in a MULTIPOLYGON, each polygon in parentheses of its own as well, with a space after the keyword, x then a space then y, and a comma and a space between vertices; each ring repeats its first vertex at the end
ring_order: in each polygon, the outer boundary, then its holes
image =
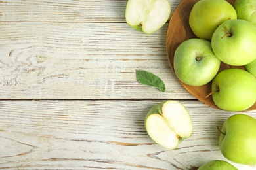
POLYGON ((158 88, 161 92, 165 92, 164 82, 153 73, 143 70, 136 70, 137 81, 147 86, 153 86, 158 88))

